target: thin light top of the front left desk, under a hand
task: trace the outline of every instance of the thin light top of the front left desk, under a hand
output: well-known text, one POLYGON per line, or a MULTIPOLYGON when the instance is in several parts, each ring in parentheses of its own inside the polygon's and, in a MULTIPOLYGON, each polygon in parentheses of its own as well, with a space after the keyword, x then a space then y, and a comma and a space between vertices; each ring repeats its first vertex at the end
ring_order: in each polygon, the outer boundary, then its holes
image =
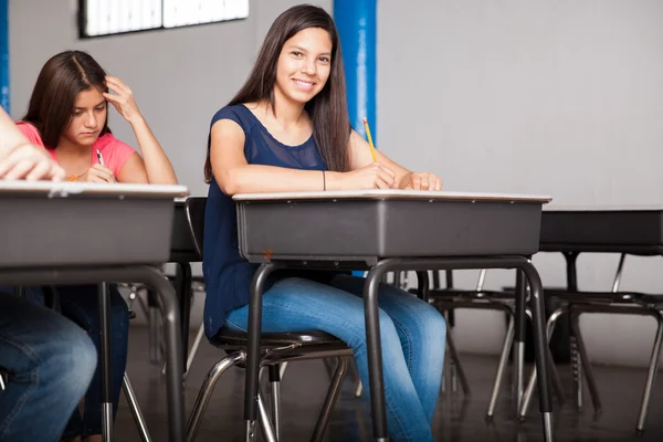
POLYGON ((86 197, 148 197, 169 198, 185 197, 189 189, 185 186, 164 185, 128 185, 95 182, 51 182, 51 181, 0 181, 0 197, 3 194, 48 196, 49 198, 66 198, 84 194, 86 197))

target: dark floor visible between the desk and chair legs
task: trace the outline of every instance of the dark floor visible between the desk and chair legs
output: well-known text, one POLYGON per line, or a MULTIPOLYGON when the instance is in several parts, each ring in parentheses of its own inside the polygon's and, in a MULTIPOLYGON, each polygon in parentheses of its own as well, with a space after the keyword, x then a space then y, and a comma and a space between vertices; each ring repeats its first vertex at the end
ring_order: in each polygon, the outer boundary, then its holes
MULTIPOLYGON (((128 373, 146 414, 154 441, 167 441, 165 386, 160 367, 149 364, 147 329, 131 328, 128 373)), ((221 351, 207 343, 200 347, 187 380, 187 412, 198 393, 207 371, 221 357, 221 351)), ((472 397, 461 392, 441 392, 433 422, 436 441, 543 441, 540 419, 533 403, 528 419, 515 423, 509 409, 506 385, 492 423, 484 420, 488 397, 497 366, 496 357, 461 355, 470 379, 472 397)), ((527 370, 529 372, 529 370, 527 370)), ((634 433, 635 420, 644 386, 644 369, 596 367, 596 377, 603 402, 603 412, 593 419, 588 393, 586 409, 578 412, 570 403, 571 377, 568 366, 561 366, 562 381, 567 387, 569 403, 555 407, 556 441, 663 441, 663 379, 654 389, 650 404, 646 431, 634 433)), ((366 394, 355 398, 351 378, 346 379, 344 391, 334 411, 327 432, 328 441, 369 441, 371 421, 366 394)), ((317 412, 325 397, 329 377, 322 361, 291 365, 283 379, 283 439, 307 441, 317 412)), ((243 371, 231 369, 219 381, 210 408, 198 433, 197 441, 220 442, 243 440, 242 420, 243 371)), ((262 438, 261 438, 262 439, 262 438)), ((115 424, 115 440, 139 441, 136 425, 124 399, 115 424)))

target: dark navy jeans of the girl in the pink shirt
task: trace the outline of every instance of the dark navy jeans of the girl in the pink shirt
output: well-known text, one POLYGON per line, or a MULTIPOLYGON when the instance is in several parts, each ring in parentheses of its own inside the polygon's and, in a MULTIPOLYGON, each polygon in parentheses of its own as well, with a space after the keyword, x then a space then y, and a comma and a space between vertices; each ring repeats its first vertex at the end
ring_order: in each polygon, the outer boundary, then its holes
MULTIPOLYGON (((99 307, 96 285, 62 285, 55 287, 60 294, 60 309, 64 317, 82 327, 99 348, 99 307)), ((43 304, 40 287, 28 287, 25 298, 43 304)), ((114 284, 110 284, 110 347, 113 365, 113 415, 117 413, 119 392, 127 367, 129 339, 129 309, 114 284)), ((102 434, 102 378, 101 369, 94 372, 85 393, 83 415, 76 408, 66 425, 64 438, 102 434)))

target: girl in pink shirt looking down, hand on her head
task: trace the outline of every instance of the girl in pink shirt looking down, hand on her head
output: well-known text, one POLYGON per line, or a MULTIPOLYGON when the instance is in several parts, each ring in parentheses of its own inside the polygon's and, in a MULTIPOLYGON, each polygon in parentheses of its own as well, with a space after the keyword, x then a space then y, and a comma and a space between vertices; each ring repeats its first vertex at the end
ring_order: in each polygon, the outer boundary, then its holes
MULTIPOLYGON (((106 75, 85 52, 62 52, 46 62, 36 80, 28 113, 18 126, 30 141, 46 149, 70 181, 177 183, 172 165, 138 110, 131 90, 119 78, 106 75), (110 133, 108 103, 134 129, 143 156, 110 133)), ((83 327, 98 348, 96 286, 60 286, 57 292, 62 314, 83 327)), ((30 287, 27 293, 34 301, 43 302, 40 287, 30 287)), ((127 305, 114 285, 110 295, 115 415, 126 368, 129 317, 127 305)), ((96 442, 102 440, 101 433, 97 367, 83 411, 74 410, 63 440, 96 442)))

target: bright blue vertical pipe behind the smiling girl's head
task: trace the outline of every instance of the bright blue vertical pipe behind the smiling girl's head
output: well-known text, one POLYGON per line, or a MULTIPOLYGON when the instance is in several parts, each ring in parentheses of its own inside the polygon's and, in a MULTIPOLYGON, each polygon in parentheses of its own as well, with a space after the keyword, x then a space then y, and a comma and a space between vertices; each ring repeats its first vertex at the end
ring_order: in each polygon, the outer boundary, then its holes
POLYGON ((376 147, 377 15, 377 0, 334 0, 334 21, 343 49, 350 124, 366 138, 364 117, 368 118, 376 147))

